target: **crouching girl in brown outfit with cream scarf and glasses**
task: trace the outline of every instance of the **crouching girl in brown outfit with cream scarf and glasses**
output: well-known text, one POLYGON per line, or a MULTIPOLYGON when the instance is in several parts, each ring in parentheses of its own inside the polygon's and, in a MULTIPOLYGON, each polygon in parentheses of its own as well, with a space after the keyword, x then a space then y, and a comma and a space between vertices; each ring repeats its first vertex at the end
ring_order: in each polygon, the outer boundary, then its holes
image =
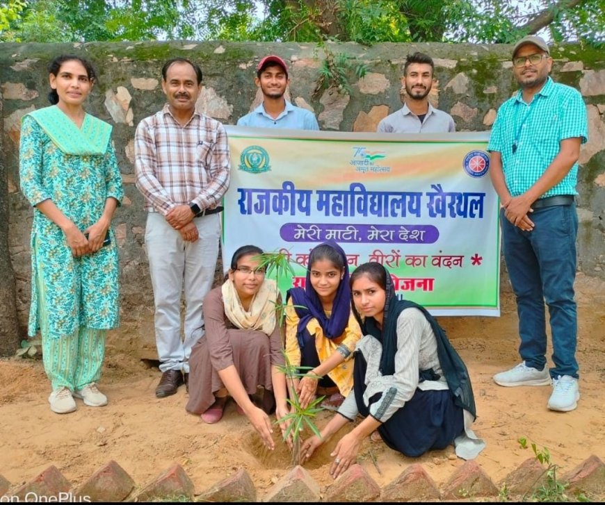
POLYGON ((268 413, 275 397, 277 419, 287 415, 280 326, 275 316, 277 288, 259 268, 262 250, 248 245, 235 251, 228 278, 204 299, 206 333, 189 358, 188 412, 209 424, 223 417, 227 395, 250 420, 265 445, 275 447, 268 413), (264 408, 250 398, 264 388, 264 408))

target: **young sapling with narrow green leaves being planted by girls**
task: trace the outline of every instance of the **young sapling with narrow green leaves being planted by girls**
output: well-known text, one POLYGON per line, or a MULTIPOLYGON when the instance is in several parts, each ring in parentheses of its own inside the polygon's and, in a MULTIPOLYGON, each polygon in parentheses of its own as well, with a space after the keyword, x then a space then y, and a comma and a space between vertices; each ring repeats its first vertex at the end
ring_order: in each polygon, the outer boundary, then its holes
MULTIPOLYGON (((265 252, 259 254, 256 259, 259 261, 258 267, 264 269, 267 276, 275 276, 277 283, 277 302, 275 304, 275 311, 277 313, 277 324, 280 325, 282 331, 282 342, 284 342, 284 321, 286 319, 287 301, 285 297, 280 296, 280 282, 285 282, 295 274, 291 265, 291 263, 293 263, 291 255, 283 251, 265 252)), ((314 423, 314 419, 318 413, 324 410, 320 406, 324 397, 314 399, 304 408, 301 406, 300 398, 298 397, 298 392, 296 392, 294 383, 297 379, 301 379, 302 376, 309 376, 307 372, 312 367, 298 367, 292 365, 283 349, 282 354, 284 355, 285 364, 279 368, 280 372, 286 376, 287 390, 289 392, 289 398, 286 401, 290 406, 290 413, 280 417, 280 419, 276 421, 276 424, 285 424, 287 426, 284 432, 284 441, 287 442, 290 440, 292 442, 292 464, 298 465, 300 464, 300 435, 303 430, 308 428, 316 436, 321 437, 319 430, 314 423)), ((320 377, 313 375, 312 378, 317 380, 320 379, 320 377)))

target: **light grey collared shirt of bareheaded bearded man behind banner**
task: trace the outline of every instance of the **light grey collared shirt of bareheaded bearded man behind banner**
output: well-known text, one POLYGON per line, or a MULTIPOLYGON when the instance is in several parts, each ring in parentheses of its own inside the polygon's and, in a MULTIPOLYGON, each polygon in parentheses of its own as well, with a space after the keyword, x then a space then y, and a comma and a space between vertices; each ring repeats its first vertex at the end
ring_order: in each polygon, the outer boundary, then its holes
POLYGON ((408 104, 378 123, 378 133, 448 133, 456 131, 453 117, 428 104, 424 121, 412 113, 408 104))

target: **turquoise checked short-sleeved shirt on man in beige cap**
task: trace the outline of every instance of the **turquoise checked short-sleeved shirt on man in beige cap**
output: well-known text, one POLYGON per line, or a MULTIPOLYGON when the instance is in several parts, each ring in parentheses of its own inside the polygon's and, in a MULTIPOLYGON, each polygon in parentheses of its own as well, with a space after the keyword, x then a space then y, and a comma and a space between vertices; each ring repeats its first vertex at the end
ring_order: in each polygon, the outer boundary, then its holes
MULTIPOLYGON (((546 172, 560 150, 561 140, 576 137, 582 144, 588 140, 582 95, 549 77, 530 104, 523 101, 521 90, 502 104, 487 150, 501 154, 506 187, 518 197, 546 172), (514 153, 513 145, 517 146, 514 153)), ((578 164, 574 163, 563 180, 541 198, 576 194, 577 175, 578 164)))

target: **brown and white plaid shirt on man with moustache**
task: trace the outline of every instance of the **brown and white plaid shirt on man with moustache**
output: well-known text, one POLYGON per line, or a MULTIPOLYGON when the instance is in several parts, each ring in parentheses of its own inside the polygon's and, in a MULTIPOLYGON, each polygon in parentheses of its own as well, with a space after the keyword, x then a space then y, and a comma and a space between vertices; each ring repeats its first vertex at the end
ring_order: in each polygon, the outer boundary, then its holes
POLYGON ((136 127, 134 169, 148 212, 166 215, 188 204, 215 208, 231 173, 225 128, 197 110, 181 126, 166 104, 136 127))

